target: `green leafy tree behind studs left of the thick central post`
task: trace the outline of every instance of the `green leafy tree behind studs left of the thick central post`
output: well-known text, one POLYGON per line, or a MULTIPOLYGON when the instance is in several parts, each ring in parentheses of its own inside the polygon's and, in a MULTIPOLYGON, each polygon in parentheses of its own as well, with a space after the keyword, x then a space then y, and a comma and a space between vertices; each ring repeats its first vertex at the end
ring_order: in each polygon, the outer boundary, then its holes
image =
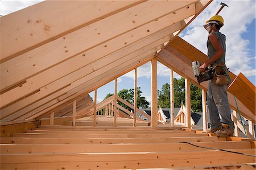
MULTIPOLYGON (((141 93, 142 93, 141 87, 138 87, 137 88, 137 107, 147 108, 150 103, 146 100, 145 97, 141 96, 141 93)), ((106 95, 106 97, 104 99, 106 99, 110 96, 113 96, 113 95, 114 94, 109 93, 106 95)), ((131 104, 134 103, 134 89, 122 89, 117 93, 117 95, 131 104)), ((119 101, 118 101, 118 105, 125 107, 129 111, 133 110, 130 107, 126 106, 125 104, 123 104, 119 101)))

